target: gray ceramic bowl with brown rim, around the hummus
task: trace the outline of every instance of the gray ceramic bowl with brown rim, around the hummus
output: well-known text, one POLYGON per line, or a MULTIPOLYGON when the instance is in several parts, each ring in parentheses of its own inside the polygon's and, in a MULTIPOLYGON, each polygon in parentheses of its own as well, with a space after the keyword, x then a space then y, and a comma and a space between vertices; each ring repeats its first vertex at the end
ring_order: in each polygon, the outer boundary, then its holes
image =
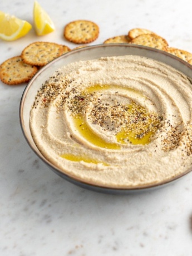
POLYGON ((29 114, 31 110, 31 106, 35 99, 37 90, 42 86, 42 83, 50 77, 54 71, 58 68, 67 65, 68 63, 80 61, 80 60, 92 60, 100 57, 107 56, 123 56, 123 55, 140 55, 149 58, 153 58, 157 61, 164 62, 177 70, 185 73, 186 76, 192 79, 192 66, 181 60, 174 55, 170 55, 167 52, 163 52, 157 50, 155 48, 138 46, 138 45, 129 45, 129 44, 106 44, 106 45, 96 45, 96 46, 88 46, 79 48, 78 50, 67 52, 65 55, 62 55, 55 60, 48 63, 45 67, 43 67, 28 83, 26 89, 23 92, 21 105, 20 105, 20 122, 21 128, 23 131, 23 135, 26 138, 31 149, 43 160, 51 170, 53 170, 56 174, 60 175, 62 178, 70 181, 73 184, 82 186, 86 189, 91 189, 95 191, 99 191, 102 193, 112 193, 112 194, 128 194, 130 192, 135 191, 145 191, 152 188, 159 188, 163 185, 170 184, 170 182, 174 180, 178 180, 181 176, 189 173, 191 170, 187 170, 182 175, 176 176, 174 179, 166 181, 166 183, 155 184, 147 187, 139 187, 136 189, 114 189, 114 188, 103 188, 101 186, 94 186, 87 183, 82 183, 81 181, 75 180, 69 175, 66 175, 60 169, 56 168, 50 161, 48 161, 41 152, 37 149, 35 142, 31 136, 31 131, 29 129, 29 114))

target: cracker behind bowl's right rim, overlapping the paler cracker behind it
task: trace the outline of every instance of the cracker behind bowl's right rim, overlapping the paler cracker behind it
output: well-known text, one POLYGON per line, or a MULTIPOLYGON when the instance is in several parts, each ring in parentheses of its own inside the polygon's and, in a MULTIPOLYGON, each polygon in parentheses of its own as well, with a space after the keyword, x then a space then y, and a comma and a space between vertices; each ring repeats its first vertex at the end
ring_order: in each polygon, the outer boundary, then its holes
POLYGON ((163 37, 155 34, 143 34, 137 36, 131 40, 131 43, 134 43, 135 45, 149 46, 163 51, 166 51, 168 48, 168 42, 163 37))

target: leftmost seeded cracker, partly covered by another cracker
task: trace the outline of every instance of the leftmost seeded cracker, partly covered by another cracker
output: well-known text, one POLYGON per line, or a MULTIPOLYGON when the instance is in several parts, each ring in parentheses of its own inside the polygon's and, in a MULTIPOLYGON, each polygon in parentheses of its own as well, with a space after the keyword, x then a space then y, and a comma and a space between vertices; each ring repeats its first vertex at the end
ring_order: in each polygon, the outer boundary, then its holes
POLYGON ((7 85, 28 82, 37 73, 38 68, 22 61, 21 56, 9 58, 0 66, 0 79, 7 85))

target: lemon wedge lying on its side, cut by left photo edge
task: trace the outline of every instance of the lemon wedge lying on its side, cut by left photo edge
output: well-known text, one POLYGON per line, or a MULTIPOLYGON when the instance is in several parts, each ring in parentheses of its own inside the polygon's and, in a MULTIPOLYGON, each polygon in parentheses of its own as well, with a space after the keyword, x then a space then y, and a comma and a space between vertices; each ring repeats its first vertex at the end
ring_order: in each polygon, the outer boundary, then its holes
POLYGON ((0 38, 13 41, 25 36, 32 28, 31 24, 0 11, 0 38))

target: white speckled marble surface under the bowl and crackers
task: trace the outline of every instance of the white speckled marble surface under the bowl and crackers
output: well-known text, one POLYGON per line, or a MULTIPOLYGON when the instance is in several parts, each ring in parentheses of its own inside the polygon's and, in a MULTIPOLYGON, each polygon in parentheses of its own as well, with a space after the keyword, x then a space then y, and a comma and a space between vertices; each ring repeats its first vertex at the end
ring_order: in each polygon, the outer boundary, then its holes
MULTIPOLYGON (((43 1, 56 31, 0 41, 0 62, 35 41, 63 43, 75 19, 100 26, 102 43, 134 27, 148 28, 171 46, 192 52, 191 0, 43 1)), ((33 1, 2 0, 0 9, 32 22, 33 1)), ((0 82, 0 255, 192 255, 192 173, 177 183, 127 196, 99 194, 63 180, 38 159, 19 125, 26 85, 0 82)))

